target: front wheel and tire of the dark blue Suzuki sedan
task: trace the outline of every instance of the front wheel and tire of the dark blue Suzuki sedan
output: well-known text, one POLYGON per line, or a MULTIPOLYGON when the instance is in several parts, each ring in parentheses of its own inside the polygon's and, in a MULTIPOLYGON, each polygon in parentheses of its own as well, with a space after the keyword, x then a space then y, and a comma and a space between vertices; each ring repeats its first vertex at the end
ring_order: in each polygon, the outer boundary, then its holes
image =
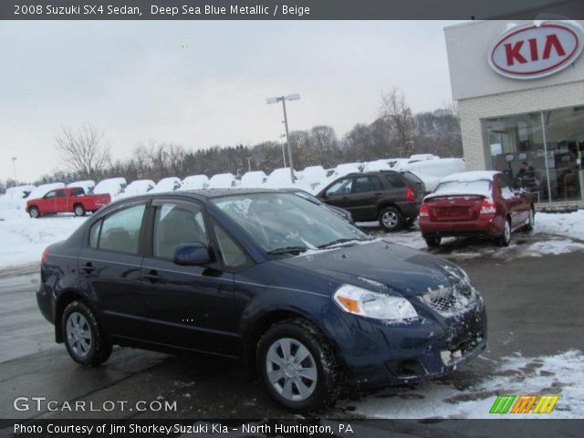
POLYGON ((342 367, 328 339, 304 318, 269 328, 257 343, 256 366, 266 390, 289 411, 318 411, 342 389, 342 367))

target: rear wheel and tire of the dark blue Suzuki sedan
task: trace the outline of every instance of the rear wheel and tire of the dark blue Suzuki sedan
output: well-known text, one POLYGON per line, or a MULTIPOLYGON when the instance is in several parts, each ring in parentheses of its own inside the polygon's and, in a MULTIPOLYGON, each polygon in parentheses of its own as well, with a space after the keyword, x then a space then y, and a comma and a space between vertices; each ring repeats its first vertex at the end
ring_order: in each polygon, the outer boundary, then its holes
POLYGON ((61 330, 69 355, 81 365, 95 367, 110 358, 111 344, 83 301, 68 304, 63 311, 61 330))

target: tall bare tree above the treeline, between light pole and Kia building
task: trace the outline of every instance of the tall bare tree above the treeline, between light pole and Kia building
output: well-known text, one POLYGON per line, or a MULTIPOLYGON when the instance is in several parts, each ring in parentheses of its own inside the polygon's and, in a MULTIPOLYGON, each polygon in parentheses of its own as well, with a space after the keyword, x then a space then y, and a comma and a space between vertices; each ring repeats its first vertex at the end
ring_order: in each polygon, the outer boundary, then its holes
POLYGON ((412 110, 400 89, 391 89, 381 94, 381 117, 387 120, 400 141, 401 153, 409 156, 413 152, 414 122, 412 110))

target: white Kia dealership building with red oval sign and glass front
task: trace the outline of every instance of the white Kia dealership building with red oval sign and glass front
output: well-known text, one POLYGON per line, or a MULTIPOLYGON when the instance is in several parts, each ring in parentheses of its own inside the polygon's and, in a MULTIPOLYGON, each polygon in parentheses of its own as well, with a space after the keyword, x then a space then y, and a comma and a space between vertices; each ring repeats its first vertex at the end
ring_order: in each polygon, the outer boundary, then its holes
POLYGON ((467 170, 521 176, 542 203, 584 199, 584 21, 490 20, 444 34, 467 170))

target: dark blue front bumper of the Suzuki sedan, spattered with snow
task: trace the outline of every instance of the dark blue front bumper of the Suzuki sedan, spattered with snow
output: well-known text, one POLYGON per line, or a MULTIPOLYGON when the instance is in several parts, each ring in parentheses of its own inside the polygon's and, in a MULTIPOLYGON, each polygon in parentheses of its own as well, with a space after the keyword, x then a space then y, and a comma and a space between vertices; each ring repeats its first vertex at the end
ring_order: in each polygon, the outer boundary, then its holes
POLYGON ((350 334, 338 345, 349 386, 382 387, 433 379, 456 370, 486 348, 482 298, 474 308, 451 318, 416 309, 421 318, 400 324, 342 316, 350 334))

